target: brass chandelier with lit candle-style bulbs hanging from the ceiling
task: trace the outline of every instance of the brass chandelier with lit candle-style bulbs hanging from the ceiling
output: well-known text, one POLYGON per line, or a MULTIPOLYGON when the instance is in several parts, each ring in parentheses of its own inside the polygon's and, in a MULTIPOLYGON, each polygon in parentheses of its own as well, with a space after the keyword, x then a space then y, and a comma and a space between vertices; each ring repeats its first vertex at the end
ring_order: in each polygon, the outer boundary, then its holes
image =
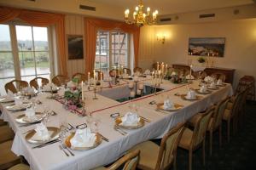
POLYGON ((136 25, 136 26, 144 26, 144 25, 154 25, 156 23, 156 17, 158 14, 158 10, 155 10, 152 15, 150 15, 150 8, 147 8, 147 13, 143 13, 143 1, 140 0, 139 5, 135 8, 133 12, 132 18, 129 17, 130 10, 125 10, 125 23, 136 25))

